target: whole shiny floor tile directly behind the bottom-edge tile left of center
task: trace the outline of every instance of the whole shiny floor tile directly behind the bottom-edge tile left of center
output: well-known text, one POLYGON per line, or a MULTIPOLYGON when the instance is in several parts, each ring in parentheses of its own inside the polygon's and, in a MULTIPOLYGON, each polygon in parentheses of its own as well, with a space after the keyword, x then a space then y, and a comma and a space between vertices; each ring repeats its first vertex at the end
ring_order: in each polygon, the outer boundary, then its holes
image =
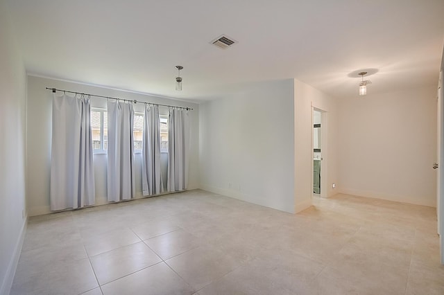
POLYGON ((100 285, 162 261, 144 242, 130 244, 89 259, 100 285))

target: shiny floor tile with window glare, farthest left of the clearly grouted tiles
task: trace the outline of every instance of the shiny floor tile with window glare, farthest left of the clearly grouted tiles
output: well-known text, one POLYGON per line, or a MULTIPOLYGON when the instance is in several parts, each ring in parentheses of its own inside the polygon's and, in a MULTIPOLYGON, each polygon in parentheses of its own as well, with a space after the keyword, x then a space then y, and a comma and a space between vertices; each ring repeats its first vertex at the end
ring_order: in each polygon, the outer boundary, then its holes
POLYGON ((85 249, 89 256, 105 253, 119 247, 135 244, 141 240, 130 229, 116 229, 85 239, 85 249))

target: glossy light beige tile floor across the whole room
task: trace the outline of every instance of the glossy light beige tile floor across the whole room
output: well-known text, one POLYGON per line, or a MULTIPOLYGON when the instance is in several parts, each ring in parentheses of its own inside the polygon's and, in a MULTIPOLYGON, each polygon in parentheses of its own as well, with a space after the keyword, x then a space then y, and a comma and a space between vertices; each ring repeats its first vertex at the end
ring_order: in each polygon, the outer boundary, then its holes
POLYGON ((434 208, 192 190, 32 217, 10 294, 444 294, 434 208))

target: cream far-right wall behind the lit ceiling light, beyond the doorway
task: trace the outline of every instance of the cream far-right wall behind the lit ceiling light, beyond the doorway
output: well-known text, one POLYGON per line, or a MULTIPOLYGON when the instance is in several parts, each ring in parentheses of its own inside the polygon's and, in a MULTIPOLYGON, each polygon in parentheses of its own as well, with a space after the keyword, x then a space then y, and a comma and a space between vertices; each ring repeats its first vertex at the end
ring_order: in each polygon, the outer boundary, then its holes
POLYGON ((339 100, 341 193, 436 206, 436 87, 339 100))

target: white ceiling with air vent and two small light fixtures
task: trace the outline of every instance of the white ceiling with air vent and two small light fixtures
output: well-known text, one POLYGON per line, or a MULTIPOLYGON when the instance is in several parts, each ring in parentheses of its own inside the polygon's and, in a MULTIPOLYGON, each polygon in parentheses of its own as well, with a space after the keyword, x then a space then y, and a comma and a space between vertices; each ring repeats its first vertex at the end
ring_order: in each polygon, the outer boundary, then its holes
POLYGON ((196 101, 287 78, 357 96, 361 69, 368 93, 435 85, 444 44, 443 0, 6 1, 28 73, 196 101))

